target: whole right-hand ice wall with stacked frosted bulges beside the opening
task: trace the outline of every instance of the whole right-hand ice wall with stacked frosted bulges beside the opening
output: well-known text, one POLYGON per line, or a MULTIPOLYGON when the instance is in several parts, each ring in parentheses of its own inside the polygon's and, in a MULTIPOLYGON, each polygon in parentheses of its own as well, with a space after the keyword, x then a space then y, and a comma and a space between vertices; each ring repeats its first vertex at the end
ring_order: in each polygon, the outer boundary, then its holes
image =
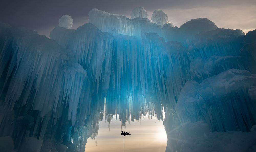
POLYGON ((167 151, 255 151, 254 35, 196 35, 187 53, 194 81, 182 88, 175 111, 165 111, 167 151))

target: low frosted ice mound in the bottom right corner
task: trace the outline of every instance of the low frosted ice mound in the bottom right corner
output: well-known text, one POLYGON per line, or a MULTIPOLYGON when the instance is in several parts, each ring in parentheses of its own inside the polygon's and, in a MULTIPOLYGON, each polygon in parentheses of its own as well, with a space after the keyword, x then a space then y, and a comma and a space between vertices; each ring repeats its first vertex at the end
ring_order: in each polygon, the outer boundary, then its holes
POLYGON ((211 132, 208 124, 186 122, 181 130, 183 143, 180 151, 248 151, 256 150, 256 132, 211 132))

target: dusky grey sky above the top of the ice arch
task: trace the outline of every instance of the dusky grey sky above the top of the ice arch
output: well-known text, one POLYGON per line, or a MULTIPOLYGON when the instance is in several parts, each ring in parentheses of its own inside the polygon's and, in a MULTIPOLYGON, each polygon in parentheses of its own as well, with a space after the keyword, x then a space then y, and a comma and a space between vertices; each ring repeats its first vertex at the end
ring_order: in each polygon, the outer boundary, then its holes
POLYGON ((9 0, 1 2, 0 21, 48 37, 62 15, 70 15, 74 21, 71 28, 77 29, 88 23, 92 8, 131 18, 132 10, 138 6, 146 9, 148 19, 156 9, 162 9, 177 27, 193 18, 208 18, 219 28, 241 29, 245 33, 256 29, 255 0, 9 0))

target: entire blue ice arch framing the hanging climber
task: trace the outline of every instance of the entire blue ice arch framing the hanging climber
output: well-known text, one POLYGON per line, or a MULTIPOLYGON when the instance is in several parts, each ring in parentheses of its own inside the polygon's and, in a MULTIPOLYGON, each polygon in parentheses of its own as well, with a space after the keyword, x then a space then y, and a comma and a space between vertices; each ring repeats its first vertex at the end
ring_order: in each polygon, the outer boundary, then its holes
POLYGON ((51 39, 0 23, 0 148, 84 151, 103 119, 164 108, 166 151, 256 150, 256 30, 98 9, 89 22, 51 39))

